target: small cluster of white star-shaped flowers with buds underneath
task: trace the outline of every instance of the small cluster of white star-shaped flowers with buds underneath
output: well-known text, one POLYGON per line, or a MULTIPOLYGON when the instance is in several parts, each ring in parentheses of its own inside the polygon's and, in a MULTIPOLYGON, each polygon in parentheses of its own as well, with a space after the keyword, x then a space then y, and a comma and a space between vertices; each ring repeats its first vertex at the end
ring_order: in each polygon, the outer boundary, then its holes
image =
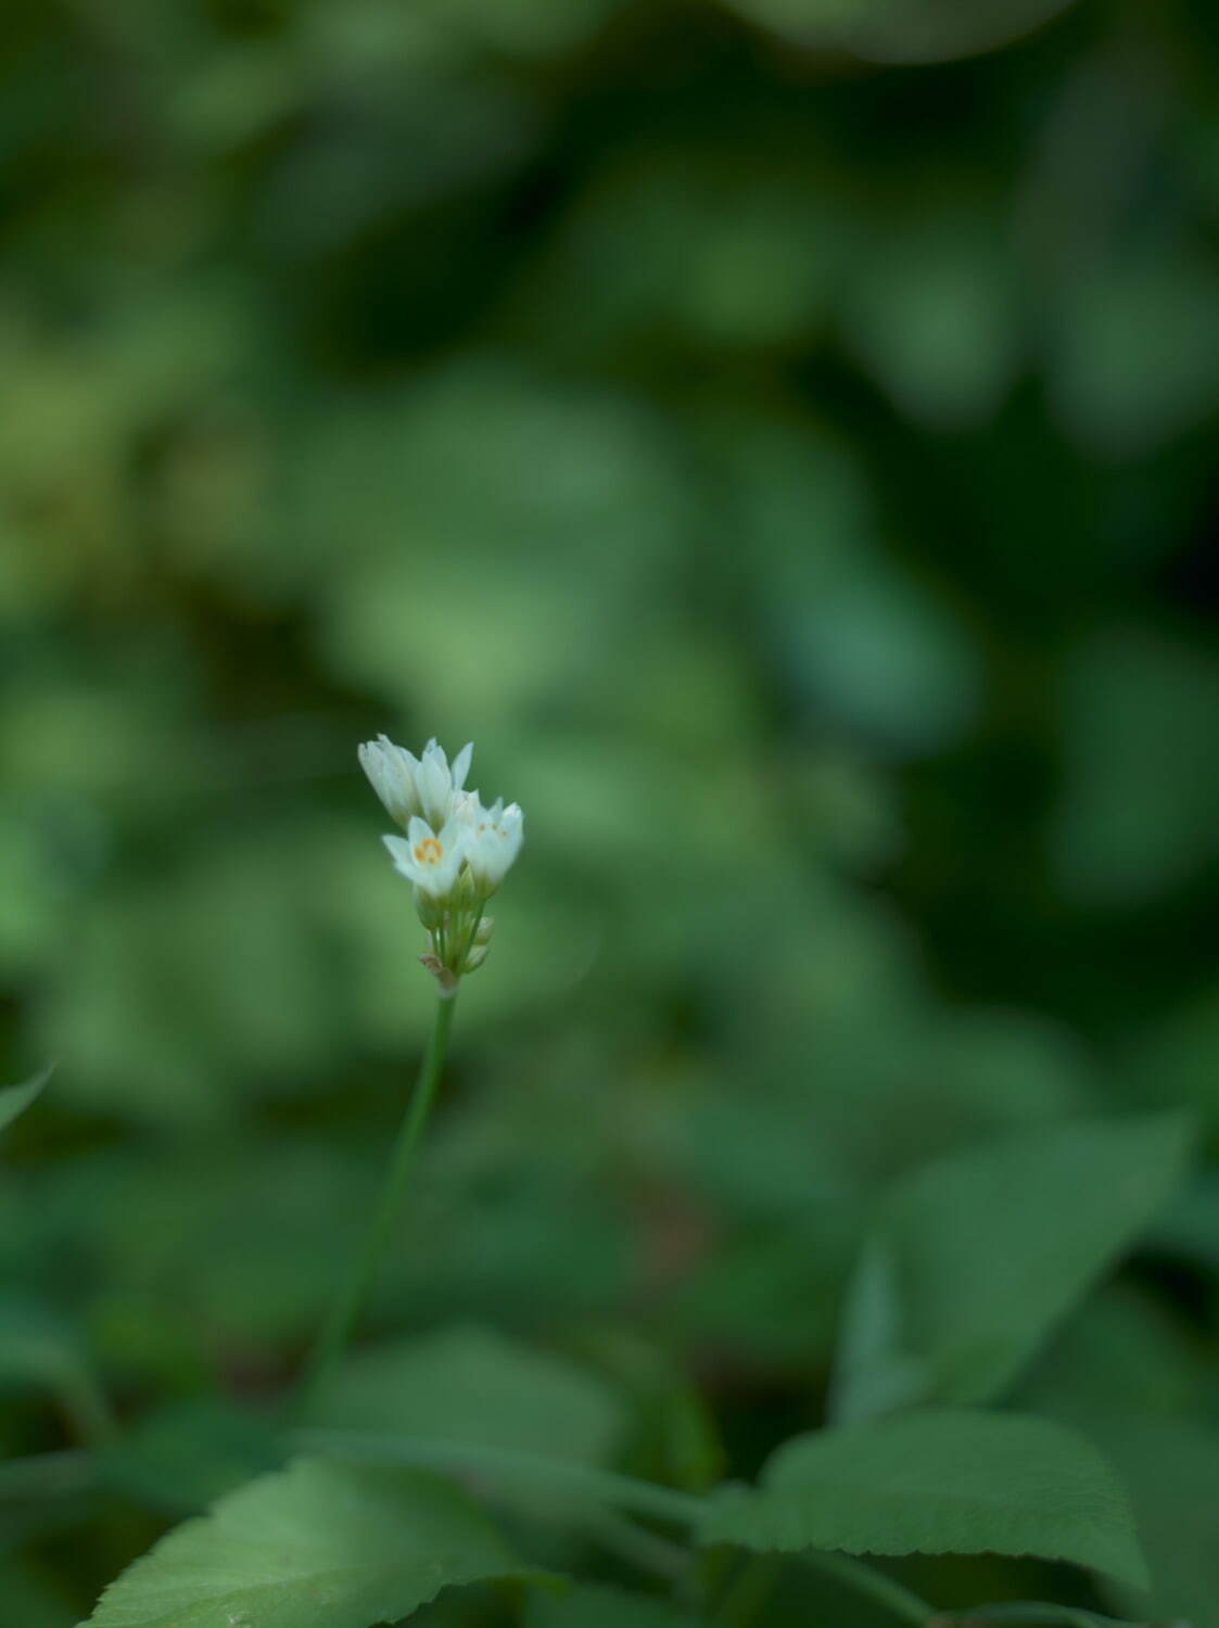
POLYGON ((384 837, 394 869, 415 886, 415 910, 431 936, 422 957, 441 990, 487 959, 487 900, 521 851, 524 816, 503 798, 483 807, 465 790, 474 746, 449 764, 435 739, 420 757, 381 734, 360 747, 360 765, 405 837, 384 837))

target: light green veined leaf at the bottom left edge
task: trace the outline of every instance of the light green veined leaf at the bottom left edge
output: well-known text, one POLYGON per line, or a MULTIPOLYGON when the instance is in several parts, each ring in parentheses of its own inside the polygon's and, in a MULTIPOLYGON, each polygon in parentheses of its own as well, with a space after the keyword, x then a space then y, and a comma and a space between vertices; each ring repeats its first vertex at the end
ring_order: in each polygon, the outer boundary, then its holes
POLYGON ((532 1578, 449 1481, 298 1459, 112 1582, 94 1628, 369 1628, 451 1584, 532 1578))

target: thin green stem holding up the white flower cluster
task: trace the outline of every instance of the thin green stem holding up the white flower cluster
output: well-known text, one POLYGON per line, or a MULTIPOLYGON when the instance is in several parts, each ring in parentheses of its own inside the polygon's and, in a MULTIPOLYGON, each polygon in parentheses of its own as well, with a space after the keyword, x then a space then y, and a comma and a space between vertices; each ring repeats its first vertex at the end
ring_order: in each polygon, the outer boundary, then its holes
POLYGON ((418 1079, 415 1081, 415 1089, 410 1094, 407 1110, 402 1117, 402 1128, 399 1130, 397 1141, 394 1143, 394 1156, 389 1164, 389 1172, 386 1174, 386 1184, 381 1188, 381 1200, 365 1239, 365 1247, 356 1258, 350 1278, 330 1307, 330 1314, 322 1324, 321 1333, 317 1335, 314 1348, 309 1353, 304 1377, 295 1400, 293 1416, 308 1413, 309 1407, 317 1400, 319 1394, 326 1387, 335 1363, 343 1354, 343 1350, 352 1338, 356 1319, 363 1311, 368 1293, 373 1288, 376 1275, 386 1258, 386 1250, 389 1249, 389 1242, 394 1236, 394 1224, 397 1221, 399 1210, 402 1208, 410 1172, 415 1164, 415 1149, 418 1148, 418 1140, 423 1135, 423 1127, 428 1122, 428 1114, 431 1112, 431 1104, 436 1097, 436 1086, 439 1084, 441 1070, 444 1066, 444 1052, 449 1044, 449 1031, 452 1027, 452 1011, 456 1004, 456 990, 452 993, 441 995, 436 1001, 436 1019, 431 1026, 431 1040, 428 1042, 428 1050, 420 1063, 418 1079))

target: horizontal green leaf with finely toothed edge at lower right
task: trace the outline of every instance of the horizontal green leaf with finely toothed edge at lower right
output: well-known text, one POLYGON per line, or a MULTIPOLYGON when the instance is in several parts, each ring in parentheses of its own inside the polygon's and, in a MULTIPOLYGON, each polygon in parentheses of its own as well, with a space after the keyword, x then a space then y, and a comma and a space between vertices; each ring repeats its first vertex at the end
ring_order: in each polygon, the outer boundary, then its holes
POLYGON ((698 1537, 763 1551, 1037 1555, 1147 1581, 1123 1490, 1082 1436, 967 1408, 797 1436, 760 1490, 711 1501, 698 1537))

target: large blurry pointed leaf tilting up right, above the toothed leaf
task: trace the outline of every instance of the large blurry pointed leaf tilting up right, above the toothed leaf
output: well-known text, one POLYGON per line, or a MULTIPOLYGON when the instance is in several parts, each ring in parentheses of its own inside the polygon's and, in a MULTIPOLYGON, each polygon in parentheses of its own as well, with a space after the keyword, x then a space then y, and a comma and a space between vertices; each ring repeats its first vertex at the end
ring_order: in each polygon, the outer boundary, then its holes
POLYGON ((856 1268, 833 1416, 999 1392, 1170 1195, 1188 1140, 1182 1115, 1160 1114, 1038 1130, 916 1171, 856 1268))

